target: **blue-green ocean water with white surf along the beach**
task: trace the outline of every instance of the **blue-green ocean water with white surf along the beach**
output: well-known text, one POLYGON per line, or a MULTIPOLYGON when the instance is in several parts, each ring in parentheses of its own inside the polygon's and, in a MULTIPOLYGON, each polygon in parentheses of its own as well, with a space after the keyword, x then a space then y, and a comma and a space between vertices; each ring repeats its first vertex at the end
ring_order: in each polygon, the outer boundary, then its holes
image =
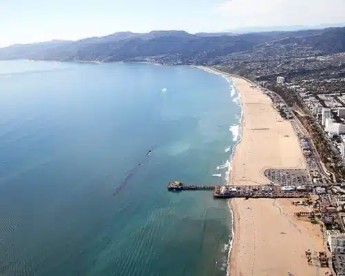
POLYGON ((188 66, 0 61, 1 275, 226 275, 232 83, 188 66), (148 155, 151 150, 150 155, 148 155))

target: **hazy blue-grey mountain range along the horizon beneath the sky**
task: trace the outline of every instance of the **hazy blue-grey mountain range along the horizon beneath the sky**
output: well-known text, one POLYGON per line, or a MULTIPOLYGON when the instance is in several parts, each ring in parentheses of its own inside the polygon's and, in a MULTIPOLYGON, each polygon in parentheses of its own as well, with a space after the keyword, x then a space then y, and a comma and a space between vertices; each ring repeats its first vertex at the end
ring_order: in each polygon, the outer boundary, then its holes
MULTIPOLYGON (((228 55, 271 51, 275 55, 328 55, 345 52, 345 28, 253 32, 197 33, 180 30, 116 32, 79 41, 47 41, 0 48, 0 59, 50 61, 150 61, 164 64, 215 64, 228 55)), ((270 52, 267 52, 270 55, 270 52)))

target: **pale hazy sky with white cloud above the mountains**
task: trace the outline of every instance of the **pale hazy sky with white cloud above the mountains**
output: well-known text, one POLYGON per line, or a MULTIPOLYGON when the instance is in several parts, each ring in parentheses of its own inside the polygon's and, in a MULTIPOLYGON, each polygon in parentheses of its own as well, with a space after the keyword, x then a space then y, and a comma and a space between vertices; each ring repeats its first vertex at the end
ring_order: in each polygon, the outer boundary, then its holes
POLYGON ((0 0, 0 46, 130 30, 344 23, 345 0, 0 0))

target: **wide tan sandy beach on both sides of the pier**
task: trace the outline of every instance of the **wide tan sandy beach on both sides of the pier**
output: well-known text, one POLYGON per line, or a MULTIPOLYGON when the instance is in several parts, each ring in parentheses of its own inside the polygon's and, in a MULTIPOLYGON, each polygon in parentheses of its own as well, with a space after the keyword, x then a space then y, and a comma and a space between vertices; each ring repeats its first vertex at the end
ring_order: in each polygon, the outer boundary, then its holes
MULTIPOLYGON (((306 168, 293 127, 252 83, 231 77, 243 108, 242 141, 235 149, 230 184, 267 184, 266 168, 306 168)), ((305 251, 323 250, 320 226, 294 217, 288 199, 231 199, 235 238, 230 275, 324 275, 307 264, 305 251)))

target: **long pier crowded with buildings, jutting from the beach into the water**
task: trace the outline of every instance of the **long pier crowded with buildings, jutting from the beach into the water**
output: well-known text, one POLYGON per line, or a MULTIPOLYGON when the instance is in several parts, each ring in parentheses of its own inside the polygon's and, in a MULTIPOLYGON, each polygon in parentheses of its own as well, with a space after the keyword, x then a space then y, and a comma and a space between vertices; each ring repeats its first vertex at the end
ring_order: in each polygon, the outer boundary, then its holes
POLYGON ((170 191, 213 190, 215 198, 303 198, 311 195, 313 188, 305 186, 217 186, 217 185, 184 185, 179 181, 168 184, 170 191))

